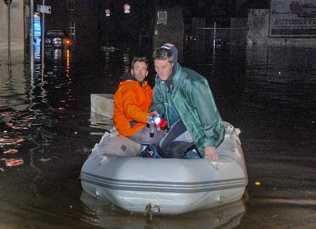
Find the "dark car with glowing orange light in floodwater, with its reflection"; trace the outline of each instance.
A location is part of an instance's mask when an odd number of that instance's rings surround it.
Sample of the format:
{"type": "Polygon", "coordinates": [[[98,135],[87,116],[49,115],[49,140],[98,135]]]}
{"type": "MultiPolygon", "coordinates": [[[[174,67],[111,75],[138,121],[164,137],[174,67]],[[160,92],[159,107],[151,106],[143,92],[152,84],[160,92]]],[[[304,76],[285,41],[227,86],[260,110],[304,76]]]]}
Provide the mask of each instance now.
{"type": "Polygon", "coordinates": [[[65,47],[72,46],[72,39],[61,29],[49,29],[45,32],[45,57],[62,60],[65,47]]]}

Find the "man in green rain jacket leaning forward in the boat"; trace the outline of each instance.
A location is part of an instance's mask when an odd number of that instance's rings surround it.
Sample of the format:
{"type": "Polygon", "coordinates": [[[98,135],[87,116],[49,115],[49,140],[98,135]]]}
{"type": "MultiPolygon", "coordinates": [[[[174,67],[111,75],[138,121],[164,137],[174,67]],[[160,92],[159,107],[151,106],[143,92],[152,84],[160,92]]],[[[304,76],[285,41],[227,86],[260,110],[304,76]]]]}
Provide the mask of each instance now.
{"type": "Polygon", "coordinates": [[[211,89],[206,78],[181,67],[177,57],[178,50],[170,43],[152,56],[157,76],[150,111],[164,115],[170,127],[158,152],[163,158],[197,158],[188,157],[196,147],[199,155],[217,161],[216,147],[225,128],[211,89]]]}

